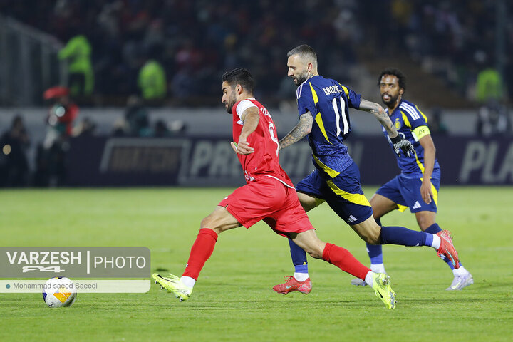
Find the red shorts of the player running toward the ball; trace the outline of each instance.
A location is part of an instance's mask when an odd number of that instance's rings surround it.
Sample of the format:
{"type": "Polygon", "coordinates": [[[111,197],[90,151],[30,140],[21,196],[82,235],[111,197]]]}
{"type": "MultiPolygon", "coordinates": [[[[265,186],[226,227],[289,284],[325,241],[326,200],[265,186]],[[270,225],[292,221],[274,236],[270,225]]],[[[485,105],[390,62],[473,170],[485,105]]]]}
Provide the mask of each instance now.
{"type": "Polygon", "coordinates": [[[246,228],[263,219],[274,232],[284,237],[288,237],[286,233],[314,229],[299,203],[296,190],[271,177],[260,177],[239,187],[219,205],[246,228]]]}

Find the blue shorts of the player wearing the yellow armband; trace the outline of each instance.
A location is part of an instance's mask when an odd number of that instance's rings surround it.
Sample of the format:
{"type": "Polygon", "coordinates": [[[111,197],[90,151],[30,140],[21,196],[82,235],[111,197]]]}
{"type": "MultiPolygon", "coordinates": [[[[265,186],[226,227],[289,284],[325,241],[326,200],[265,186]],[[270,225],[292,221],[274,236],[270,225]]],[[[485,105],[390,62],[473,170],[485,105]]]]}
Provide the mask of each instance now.
{"type": "Polygon", "coordinates": [[[440,179],[431,178],[431,191],[433,200],[430,204],[424,202],[420,195],[420,178],[408,178],[398,175],[390,182],[386,183],[376,191],[376,194],[387,197],[398,204],[398,209],[404,212],[410,207],[410,212],[437,212],[438,190],[440,189],[440,179]]]}

